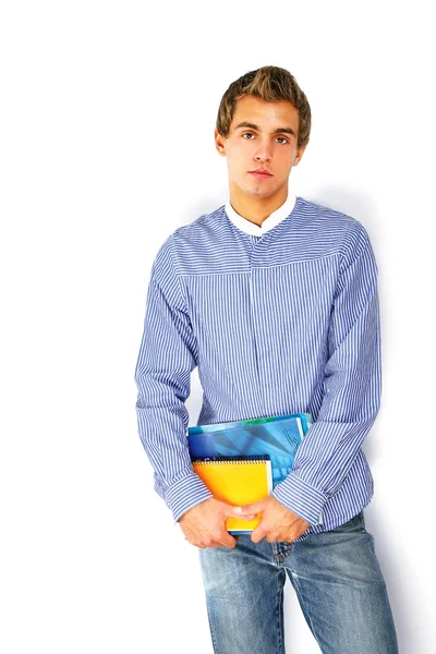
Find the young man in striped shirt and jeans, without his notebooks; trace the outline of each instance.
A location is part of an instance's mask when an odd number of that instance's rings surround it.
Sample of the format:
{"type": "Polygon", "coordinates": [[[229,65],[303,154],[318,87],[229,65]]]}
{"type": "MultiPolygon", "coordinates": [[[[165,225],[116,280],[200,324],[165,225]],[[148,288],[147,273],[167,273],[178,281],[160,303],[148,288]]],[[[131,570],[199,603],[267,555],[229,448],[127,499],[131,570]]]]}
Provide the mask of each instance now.
{"type": "Polygon", "coordinates": [[[386,584],[365,530],[373,479],[361,449],[379,405],[377,269],[363,226],[294,196],[311,109],[295,78],[264,66],[233,82],[215,143],[229,199],[177,229],[154,262],[136,365],[138,428],[155,488],[199,548],[219,654],[277,654],[286,574],[325,654],[395,654],[386,584]],[[197,424],[307,412],[313,425],[272,494],[233,508],[193,472],[197,424]],[[262,521],[226,531],[230,516],[262,521]]]}

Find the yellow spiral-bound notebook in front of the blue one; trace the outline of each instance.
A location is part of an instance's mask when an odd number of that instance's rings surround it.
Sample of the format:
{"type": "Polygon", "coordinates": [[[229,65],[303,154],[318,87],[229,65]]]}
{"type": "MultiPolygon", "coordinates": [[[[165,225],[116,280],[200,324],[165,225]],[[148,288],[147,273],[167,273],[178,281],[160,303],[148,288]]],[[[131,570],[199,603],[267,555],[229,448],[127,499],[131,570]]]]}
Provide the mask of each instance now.
{"type": "MultiPolygon", "coordinates": [[[[271,461],[267,459],[204,459],[192,462],[194,472],[216,499],[240,507],[268,497],[272,491],[271,461]]],[[[261,522],[228,518],[226,529],[231,534],[251,533],[261,522]]]]}

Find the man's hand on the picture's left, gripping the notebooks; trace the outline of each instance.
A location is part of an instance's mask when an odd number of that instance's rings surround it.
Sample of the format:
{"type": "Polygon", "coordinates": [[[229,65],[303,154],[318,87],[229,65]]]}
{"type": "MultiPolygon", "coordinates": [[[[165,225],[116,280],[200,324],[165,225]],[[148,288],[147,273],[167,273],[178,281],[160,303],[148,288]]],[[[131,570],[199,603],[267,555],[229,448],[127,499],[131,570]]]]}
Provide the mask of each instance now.
{"type": "Polygon", "coordinates": [[[226,520],[233,516],[233,508],[232,505],[210,497],[183,513],[179,524],[186,541],[202,549],[222,546],[233,548],[237,540],[226,529],[226,520]]]}

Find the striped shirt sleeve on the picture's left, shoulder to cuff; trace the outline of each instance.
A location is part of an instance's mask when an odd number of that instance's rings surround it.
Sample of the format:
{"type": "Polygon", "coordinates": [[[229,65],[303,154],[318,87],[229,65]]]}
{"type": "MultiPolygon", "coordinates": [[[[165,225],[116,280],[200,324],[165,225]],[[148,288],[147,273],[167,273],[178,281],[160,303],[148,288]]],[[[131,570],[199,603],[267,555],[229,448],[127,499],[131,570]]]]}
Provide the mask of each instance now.
{"type": "Polygon", "coordinates": [[[196,365],[196,339],[173,268],[169,237],[152,267],[135,382],[138,432],[154,469],[155,491],[175,522],[213,497],[195,474],[187,448],[184,402],[196,365]]]}

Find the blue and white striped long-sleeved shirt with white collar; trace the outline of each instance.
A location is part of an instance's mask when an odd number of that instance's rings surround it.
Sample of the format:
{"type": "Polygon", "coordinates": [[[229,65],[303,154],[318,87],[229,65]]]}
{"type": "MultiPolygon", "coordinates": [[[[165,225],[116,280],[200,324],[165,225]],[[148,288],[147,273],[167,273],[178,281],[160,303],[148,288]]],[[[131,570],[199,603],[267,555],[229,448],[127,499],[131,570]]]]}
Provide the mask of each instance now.
{"type": "Polygon", "coordinates": [[[185,400],[196,366],[197,424],[312,414],[292,471],[272,491],[311,523],[299,540],[370,502],[361,446],[379,407],[380,330],[377,266],[361,222],[288,195],[258,227],[228,202],[160,246],[136,411],[155,489],[175,522],[211,497],[187,449],[185,400]]]}

